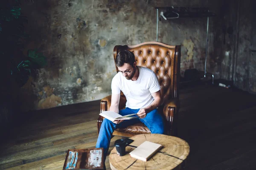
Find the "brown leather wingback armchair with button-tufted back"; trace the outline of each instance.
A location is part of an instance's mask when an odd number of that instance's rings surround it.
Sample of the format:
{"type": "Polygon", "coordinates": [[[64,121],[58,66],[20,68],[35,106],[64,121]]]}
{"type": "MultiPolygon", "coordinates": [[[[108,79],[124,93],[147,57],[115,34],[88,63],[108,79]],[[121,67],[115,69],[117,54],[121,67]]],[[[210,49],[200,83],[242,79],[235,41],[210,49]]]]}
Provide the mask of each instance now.
{"type": "MultiPolygon", "coordinates": [[[[162,105],[158,111],[166,119],[165,133],[177,136],[177,121],[179,110],[179,77],[180,77],[180,45],[167,45],[161,42],[143,42],[138,45],[116,45],[113,50],[114,59],[121,50],[134,53],[137,65],[150,68],[158,77],[162,105]]],[[[118,68],[116,67],[116,71],[118,68]]],[[[119,109],[125,108],[126,98],[121,92],[119,109]]],[[[101,100],[100,111],[109,111],[111,95],[101,100]]],[[[98,119],[98,133],[103,117],[98,119]]],[[[138,134],[151,133],[143,124],[137,123],[123,129],[116,129],[113,136],[131,137],[138,134]]]]}

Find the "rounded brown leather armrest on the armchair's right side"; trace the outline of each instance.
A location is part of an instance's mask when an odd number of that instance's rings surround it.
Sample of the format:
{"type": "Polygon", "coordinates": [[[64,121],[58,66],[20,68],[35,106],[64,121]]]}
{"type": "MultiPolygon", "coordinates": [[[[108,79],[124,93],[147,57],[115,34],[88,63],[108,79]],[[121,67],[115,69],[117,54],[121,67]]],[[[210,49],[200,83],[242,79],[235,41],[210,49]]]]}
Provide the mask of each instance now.
{"type": "Polygon", "coordinates": [[[168,135],[177,136],[178,110],[180,102],[177,98],[169,99],[163,106],[163,116],[166,118],[168,135]]]}

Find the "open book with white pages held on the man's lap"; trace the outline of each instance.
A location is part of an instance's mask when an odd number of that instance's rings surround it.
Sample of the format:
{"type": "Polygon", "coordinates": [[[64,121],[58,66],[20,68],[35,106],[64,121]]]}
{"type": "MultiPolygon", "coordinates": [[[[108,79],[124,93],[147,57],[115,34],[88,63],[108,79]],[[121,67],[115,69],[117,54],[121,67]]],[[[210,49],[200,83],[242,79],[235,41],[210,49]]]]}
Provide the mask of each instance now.
{"type": "Polygon", "coordinates": [[[126,116],[122,116],[116,112],[113,111],[102,111],[101,113],[99,113],[100,116],[105,117],[106,119],[110,120],[111,122],[115,121],[115,120],[129,120],[129,119],[134,119],[137,118],[136,115],[137,113],[134,114],[129,114],[126,116]]]}

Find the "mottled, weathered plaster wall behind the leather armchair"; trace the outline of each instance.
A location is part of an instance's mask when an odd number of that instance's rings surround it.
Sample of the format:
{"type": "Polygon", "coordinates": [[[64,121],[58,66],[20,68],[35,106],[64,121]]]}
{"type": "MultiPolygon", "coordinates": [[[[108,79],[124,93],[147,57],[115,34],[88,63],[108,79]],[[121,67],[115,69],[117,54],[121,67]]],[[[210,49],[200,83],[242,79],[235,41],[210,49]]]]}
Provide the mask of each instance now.
{"type": "MultiPolygon", "coordinates": [[[[111,79],[116,74],[113,47],[155,41],[155,6],[210,7],[217,16],[209,20],[207,71],[217,79],[221,74],[230,79],[226,75],[232,72],[230,60],[223,57],[221,0],[23,0],[31,35],[26,49],[38,48],[48,66],[20,89],[22,109],[51,108],[111,94],[111,79]]],[[[206,26],[207,18],[162,18],[159,22],[160,42],[183,45],[182,75],[189,68],[204,71],[206,26]]],[[[234,46],[235,42],[227,41],[234,46]]],[[[232,49],[227,57],[231,53],[232,49]]]]}

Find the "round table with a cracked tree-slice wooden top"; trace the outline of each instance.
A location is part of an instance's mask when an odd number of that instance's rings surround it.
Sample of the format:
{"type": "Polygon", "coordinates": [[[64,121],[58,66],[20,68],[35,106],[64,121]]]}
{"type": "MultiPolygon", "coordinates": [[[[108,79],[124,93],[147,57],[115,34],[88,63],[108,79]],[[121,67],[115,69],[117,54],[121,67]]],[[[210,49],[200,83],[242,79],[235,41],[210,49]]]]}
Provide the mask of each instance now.
{"type": "Polygon", "coordinates": [[[125,156],[118,156],[114,147],[109,155],[111,170],[179,170],[189,155],[189,144],[175,136],[149,133],[132,136],[130,139],[134,140],[131,145],[137,147],[145,141],[162,144],[163,147],[148,161],[132,158],[129,153],[134,147],[127,146],[125,156]]]}

